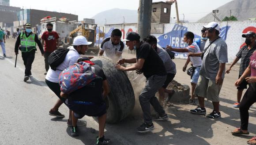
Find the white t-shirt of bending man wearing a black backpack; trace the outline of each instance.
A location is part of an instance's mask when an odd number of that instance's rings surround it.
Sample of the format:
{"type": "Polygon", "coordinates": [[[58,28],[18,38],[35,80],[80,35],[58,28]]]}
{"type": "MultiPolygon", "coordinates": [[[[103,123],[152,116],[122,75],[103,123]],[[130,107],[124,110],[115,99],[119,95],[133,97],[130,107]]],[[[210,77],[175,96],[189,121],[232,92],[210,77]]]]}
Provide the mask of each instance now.
{"type": "Polygon", "coordinates": [[[46,80],[49,80],[50,82],[53,82],[53,83],[59,83],[60,72],[62,72],[64,69],[67,69],[69,66],[77,62],[77,59],[80,57],[79,53],[72,46],[68,47],[68,49],[70,49],[70,51],[68,51],[64,59],[64,62],[62,62],[56,68],[56,71],[50,68],[45,76],[46,80]]]}

